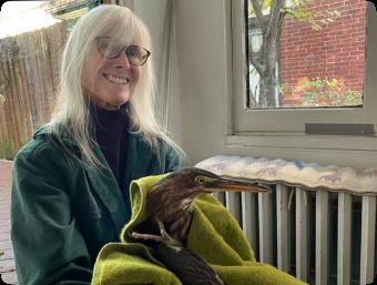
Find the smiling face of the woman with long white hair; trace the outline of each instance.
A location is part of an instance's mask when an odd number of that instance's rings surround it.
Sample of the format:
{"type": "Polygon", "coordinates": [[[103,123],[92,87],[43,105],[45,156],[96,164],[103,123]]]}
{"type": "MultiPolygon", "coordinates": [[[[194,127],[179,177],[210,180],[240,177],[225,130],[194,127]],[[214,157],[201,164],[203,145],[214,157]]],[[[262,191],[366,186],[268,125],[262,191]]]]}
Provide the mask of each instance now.
{"type": "MultiPolygon", "coordinates": [[[[136,41],[131,44],[139,45],[136,41]]],[[[133,95],[141,72],[142,67],[131,64],[124,50],[119,57],[109,59],[94,45],[84,64],[82,86],[98,105],[118,109],[133,95]]]]}

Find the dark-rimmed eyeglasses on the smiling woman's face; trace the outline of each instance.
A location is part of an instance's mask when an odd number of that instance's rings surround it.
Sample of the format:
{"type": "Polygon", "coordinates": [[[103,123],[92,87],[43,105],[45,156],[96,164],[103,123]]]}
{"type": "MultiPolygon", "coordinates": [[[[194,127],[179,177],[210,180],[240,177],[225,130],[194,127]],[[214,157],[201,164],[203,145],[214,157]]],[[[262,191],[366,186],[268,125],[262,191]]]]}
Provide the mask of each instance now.
{"type": "Polygon", "coordinates": [[[140,67],[143,65],[151,55],[151,52],[143,47],[124,47],[120,42],[112,40],[110,37],[98,37],[94,40],[99,52],[106,59],[115,59],[124,51],[130,63],[140,67]]]}

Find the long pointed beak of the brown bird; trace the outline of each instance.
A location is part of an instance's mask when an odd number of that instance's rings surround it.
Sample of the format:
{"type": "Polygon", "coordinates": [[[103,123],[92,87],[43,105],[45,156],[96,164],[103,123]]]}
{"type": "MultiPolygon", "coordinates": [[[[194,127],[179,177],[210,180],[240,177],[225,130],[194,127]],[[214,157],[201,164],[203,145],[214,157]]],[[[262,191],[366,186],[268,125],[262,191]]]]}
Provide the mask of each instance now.
{"type": "Polygon", "coordinates": [[[267,186],[262,186],[257,184],[257,182],[251,182],[245,180],[236,180],[228,177],[218,177],[211,185],[207,185],[206,189],[211,192],[272,192],[272,190],[267,186]]]}

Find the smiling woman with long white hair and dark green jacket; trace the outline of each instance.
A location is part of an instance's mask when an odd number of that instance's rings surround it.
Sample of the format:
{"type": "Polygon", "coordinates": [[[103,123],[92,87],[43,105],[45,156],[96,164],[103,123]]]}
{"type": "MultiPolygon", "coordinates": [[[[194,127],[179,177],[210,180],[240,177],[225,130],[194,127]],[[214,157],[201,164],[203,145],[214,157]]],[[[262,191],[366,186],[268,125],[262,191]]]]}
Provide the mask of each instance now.
{"type": "Polygon", "coordinates": [[[179,167],[182,152],[154,112],[150,50],[146,27],[123,7],[98,7],[71,32],[51,121],[14,160],[20,285],[90,284],[99,251],[130,220],[130,182],[179,167]]]}

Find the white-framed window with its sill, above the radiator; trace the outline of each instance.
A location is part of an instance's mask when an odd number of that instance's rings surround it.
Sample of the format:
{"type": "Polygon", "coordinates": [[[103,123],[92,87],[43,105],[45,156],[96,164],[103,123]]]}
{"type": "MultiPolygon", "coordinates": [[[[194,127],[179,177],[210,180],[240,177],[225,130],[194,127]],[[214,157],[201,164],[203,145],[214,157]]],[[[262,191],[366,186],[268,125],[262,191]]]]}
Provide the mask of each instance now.
{"type": "MultiPolygon", "coordinates": [[[[233,118],[227,145],[254,147],[261,151],[259,155],[278,149],[287,159],[297,157],[297,151],[340,150],[349,154],[350,162],[351,157],[377,151],[377,54],[373,52],[377,35],[371,32],[377,28],[377,13],[364,0],[340,2],[289,1],[288,7],[282,7],[286,14],[274,18],[283,29],[272,31],[279,39],[272,48],[265,44],[264,28],[257,20],[269,19],[272,9],[264,7],[261,13],[253,14],[252,0],[232,1],[233,118]],[[297,17],[312,19],[297,21],[288,16],[300,2],[306,6],[298,8],[307,10],[297,17]],[[320,45],[314,47],[315,41],[320,45]],[[276,53],[271,52],[274,48],[276,53]],[[259,60],[263,57],[265,65],[259,60]],[[266,65],[268,57],[272,60],[266,65]],[[266,79],[261,84],[263,72],[266,79]],[[342,135],[344,124],[354,128],[355,133],[342,135]],[[307,131],[310,125],[319,130],[318,134],[307,131]],[[365,125],[366,133],[358,129],[365,125]],[[319,135],[326,132],[327,135],[319,135]]],[[[307,157],[310,160],[313,154],[307,157]]],[[[334,163],[334,155],[332,160],[334,163]]]]}

